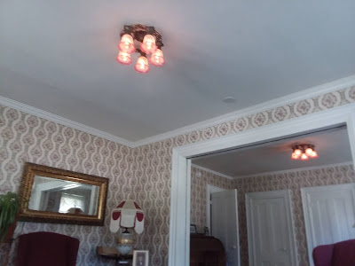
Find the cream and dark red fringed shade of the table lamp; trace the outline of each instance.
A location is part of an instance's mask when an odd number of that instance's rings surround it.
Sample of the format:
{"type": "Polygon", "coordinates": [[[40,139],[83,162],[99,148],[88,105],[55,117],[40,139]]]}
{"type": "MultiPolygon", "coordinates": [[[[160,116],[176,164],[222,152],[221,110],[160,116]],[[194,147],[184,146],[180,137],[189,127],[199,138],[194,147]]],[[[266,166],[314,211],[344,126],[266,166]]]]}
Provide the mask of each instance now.
{"type": "Polygon", "coordinates": [[[138,234],[144,229],[144,211],[133,200],[123,200],[111,214],[110,231],[133,228],[138,234]]]}

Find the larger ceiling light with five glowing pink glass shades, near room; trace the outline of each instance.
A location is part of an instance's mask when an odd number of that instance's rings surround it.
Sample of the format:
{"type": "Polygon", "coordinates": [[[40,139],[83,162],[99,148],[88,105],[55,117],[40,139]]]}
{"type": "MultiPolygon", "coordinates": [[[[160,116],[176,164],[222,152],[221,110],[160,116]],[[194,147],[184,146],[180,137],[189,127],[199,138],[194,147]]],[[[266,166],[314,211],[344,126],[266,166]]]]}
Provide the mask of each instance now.
{"type": "Polygon", "coordinates": [[[161,50],[162,35],[154,27],[141,24],[125,25],[121,32],[121,41],[117,46],[120,51],[116,59],[122,65],[130,65],[132,52],[140,53],[134,66],[138,73],[149,72],[147,55],[150,55],[149,63],[153,66],[163,66],[165,63],[161,50]]]}

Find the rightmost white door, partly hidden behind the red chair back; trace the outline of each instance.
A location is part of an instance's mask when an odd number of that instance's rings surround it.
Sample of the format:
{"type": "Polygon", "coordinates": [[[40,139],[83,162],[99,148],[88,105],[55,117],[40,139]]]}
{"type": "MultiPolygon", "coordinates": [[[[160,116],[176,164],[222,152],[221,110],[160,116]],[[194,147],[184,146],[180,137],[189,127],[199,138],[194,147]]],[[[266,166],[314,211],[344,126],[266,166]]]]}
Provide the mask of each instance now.
{"type": "Polygon", "coordinates": [[[355,184],[303,188],[308,253],[319,245],[355,239],[355,184]]]}

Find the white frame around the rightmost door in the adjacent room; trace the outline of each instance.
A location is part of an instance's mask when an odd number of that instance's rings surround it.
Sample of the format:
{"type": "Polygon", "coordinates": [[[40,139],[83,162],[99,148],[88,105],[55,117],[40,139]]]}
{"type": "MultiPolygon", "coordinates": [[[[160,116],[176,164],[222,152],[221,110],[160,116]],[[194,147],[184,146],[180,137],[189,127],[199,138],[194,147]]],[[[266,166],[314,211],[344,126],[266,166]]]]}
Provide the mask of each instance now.
{"type": "Polygon", "coordinates": [[[304,226],[305,226],[305,235],[307,239],[307,249],[309,254],[310,265],[314,265],[312,259],[312,251],[315,246],[313,246],[313,237],[312,237],[312,229],[310,224],[310,209],[308,206],[308,195],[310,192],[328,192],[333,191],[335,188],[344,190],[344,191],[353,191],[355,187],[354,183],[350,184],[330,184],[330,185],[321,185],[321,186],[311,186],[311,187],[303,187],[301,188],[301,197],[302,197],[302,205],[304,207],[304,226]]]}

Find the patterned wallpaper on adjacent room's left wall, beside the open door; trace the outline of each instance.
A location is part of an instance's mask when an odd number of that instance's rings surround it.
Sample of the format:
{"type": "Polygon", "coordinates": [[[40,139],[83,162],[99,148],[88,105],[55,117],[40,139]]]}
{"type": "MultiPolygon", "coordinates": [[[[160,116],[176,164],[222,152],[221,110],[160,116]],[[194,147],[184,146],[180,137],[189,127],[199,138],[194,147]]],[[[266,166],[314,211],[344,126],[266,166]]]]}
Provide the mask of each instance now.
{"type": "Polygon", "coordinates": [[[206,224],[206,188],[207,184],[231,190],[235,186],[233,179],[217,176],[210,172],[191,168],[191,217],[190,221],[196,224],[197,231],[203,232],[206,224]],[[199,175],[201,173],[201,176],[199,175]]]}

